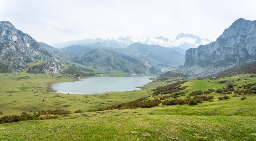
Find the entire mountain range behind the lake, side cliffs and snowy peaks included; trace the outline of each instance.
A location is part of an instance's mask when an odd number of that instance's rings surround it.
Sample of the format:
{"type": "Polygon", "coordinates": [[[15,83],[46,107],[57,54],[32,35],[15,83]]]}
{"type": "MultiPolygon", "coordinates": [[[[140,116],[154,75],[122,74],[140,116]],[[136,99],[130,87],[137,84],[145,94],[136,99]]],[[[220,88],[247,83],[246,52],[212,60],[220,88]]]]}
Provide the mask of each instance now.
{"type": "Polygon", "coordinates": [[[31,73],[63,74],[65,70],[60,65],[74,67],[69,64],[79,63],[101,71],[128,74],[162,74],[177,69],[174,72],[184,72],[192,77],[216,75],[256,60],[256,20],[240,18],[215,42],[210,42],[181,33],[173,41],[161,36],[138,40],[131,37],[97,38],[54,44],[60,48],[57,49],[38,43],[10,22],[2,21],[0,72],[17,73],[26,68],[31,73]],[[43,63],[29,67],[34,60],[43,63]],[[178,69],[180,65],[183,66],[178,69]]]}

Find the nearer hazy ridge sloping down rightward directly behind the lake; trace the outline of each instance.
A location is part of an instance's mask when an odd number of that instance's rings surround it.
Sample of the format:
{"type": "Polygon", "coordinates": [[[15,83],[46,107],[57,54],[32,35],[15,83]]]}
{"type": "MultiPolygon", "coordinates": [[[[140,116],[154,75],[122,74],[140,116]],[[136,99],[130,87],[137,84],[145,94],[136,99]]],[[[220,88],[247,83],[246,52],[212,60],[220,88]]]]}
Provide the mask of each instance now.
{"type": "Polygon", "coordinates": [[[73,45],[63,48],[67,53],[76,54],[75,63],[94,67],[103,71],[123,71],[129,74],[149,74],[149,63],[146,60],[118,51],[73,45]]]}

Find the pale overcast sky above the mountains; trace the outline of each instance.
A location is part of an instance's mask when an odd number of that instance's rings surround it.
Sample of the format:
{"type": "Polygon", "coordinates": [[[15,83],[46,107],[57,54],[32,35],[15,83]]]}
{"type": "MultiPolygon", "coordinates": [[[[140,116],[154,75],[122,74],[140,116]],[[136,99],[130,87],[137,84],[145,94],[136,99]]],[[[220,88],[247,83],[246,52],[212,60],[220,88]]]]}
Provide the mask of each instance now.
{"type": "Polygon", "coordinates": [[[181,32],[216,40],[238,18],[256,20],[256,0],[0,0],[0,21],[50,45],[181,32]]]}

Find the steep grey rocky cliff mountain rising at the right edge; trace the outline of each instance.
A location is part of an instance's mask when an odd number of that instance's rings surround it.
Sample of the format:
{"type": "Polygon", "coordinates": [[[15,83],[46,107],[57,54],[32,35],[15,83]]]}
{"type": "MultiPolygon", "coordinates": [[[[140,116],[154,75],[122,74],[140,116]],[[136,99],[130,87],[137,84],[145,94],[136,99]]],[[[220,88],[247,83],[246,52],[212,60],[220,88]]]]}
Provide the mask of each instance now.
{"type": "Polygon", "coordinates": [[[236,20],[215,42],[188,49],[180,70],[209,76],[256,60],[256,20],[236,20]]]}

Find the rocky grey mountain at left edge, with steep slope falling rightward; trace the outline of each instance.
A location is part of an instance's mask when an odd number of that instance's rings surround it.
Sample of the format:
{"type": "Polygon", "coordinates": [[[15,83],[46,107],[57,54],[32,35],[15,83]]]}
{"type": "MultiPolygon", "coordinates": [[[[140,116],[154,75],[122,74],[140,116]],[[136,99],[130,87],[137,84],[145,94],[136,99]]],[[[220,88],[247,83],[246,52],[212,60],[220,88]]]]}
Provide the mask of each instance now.
{"type": "MultiPolygon", "coordinates": [[[[43,60],[47,68],[40,72],[57,73],[58,64],[49,51],[28,34],[16,29],[11,22],[0,22],[0,72],[22,72],[34,59],[43,60]]],[[[39,70],[39,69],[38,69],[39,70]]]]}

